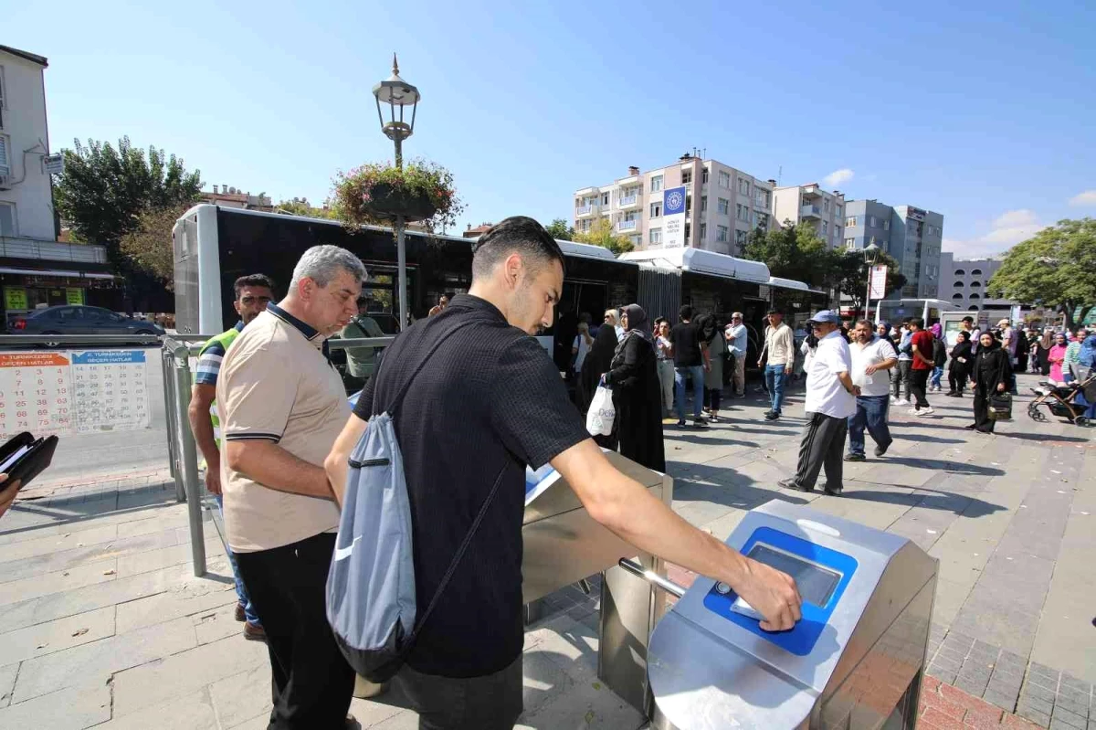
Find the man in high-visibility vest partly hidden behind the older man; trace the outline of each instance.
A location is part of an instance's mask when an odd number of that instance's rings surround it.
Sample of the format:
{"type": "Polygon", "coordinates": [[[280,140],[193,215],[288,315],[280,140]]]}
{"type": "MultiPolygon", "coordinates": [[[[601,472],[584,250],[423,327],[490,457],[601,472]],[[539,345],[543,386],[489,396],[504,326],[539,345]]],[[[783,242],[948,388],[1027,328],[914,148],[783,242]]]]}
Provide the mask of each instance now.
{"type": "MultiPolygon", "coordinates": [[[[210,338],[198,352],[198,365],[194,373],[194,389],[191,392],[189,415],[194,441],[197,442],[206,463],[206,489],[216,495],[220,504],[220,419],[217,417],[217,375],[220,373],[220,362],[232,345],[236,338],[251,320],[266,309],[274,299],[274,283],[264,274],[241,276],[233,285],[236,312],[240,321],[232,329],[210,338]]],[[[240,580],[240,571],[236,567],[232,551],[228,551],[228,560],[232,564],[232,575],[236,579],[236,620],[243,621],[243,637],[255,641],[266,639],[262,621],[255,615],[248,598],[248,591],[240,580]]]]}

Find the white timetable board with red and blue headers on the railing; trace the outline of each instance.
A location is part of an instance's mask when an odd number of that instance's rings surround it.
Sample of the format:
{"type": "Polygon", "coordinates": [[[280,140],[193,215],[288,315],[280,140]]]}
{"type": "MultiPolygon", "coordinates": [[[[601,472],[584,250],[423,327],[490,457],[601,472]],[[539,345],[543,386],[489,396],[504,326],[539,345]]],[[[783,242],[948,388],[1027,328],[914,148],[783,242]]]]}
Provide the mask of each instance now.
{"type": "Polygon", "coordinates": [[[151,424],[144,350],[0,353],[0,438],[151,424]]]}

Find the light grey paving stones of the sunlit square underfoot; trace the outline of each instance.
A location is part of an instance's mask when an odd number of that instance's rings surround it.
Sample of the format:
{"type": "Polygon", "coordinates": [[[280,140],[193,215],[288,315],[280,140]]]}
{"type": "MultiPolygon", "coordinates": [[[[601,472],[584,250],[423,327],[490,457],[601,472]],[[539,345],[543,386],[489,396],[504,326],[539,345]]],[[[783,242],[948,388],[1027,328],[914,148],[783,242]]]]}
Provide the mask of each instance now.
{"type": "MultiPolygon", "coordinates": [[[[933,418],[892,409],[894,446],[845,464],[841,498],[775,487],[795,469],[799,390],[779,421],[763,421],[751,392],[707,430],[669,425],[674,509],[726,538],[747,510],[784,499],[914,540],[940,560],[918,727],[1096,730],[1096,431],[1029,421],[1020,398],[1017,419],[983,436],[962,427],[969,399],[931,400],[933,418]]],[[[194,578],[165,472],[118,472],[33,484],[0,522],[0,730],[264,728],[265,649],[232,620],[213,523],[209,572],[194,578]]],[[[548,596],[528,627],[518,727],[643,726],[596,677],[598,585],[548,596]]],[[[398,697],[352,711],[367,728],[415,727],[398,697]]]]}

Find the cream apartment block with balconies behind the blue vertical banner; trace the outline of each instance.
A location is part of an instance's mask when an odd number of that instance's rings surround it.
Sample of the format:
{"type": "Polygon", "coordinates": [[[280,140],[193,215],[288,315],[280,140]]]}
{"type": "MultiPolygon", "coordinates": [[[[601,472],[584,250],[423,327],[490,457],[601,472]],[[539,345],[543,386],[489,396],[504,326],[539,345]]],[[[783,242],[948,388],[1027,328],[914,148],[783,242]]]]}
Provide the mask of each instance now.
{"type": "Polygon", "coordinates": [[[750,231],[772,224],[773,183],[716,160],[677,162],[574,192],[574,229],[608,219],[637,250],[663,247],[663,191],[685,187],[685,246],[734,255],[750,231]]]}

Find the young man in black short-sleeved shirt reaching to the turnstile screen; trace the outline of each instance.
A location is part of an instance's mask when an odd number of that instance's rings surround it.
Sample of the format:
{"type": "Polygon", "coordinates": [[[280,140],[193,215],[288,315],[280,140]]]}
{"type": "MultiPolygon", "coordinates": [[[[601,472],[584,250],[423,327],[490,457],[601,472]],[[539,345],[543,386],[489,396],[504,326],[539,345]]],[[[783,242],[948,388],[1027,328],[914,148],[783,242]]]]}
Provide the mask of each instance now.
{"type": "Polygon", "coordinates": [[[501,472],[467,555],[396,677],[420,728],[511,728],[522,711],[522,520],[525,467],[551,465],[590,515],[640,550],[731,584],[768,620],[800,617],[795,582],[692,527],[608,463],[535,334],[550,327],[563,254],[535,220],[507,218],[476,246],[472,284],[392,343],[326,466],[340,502],[346,459],[374,412],[391,413],[411,501],[415,592],[424,606],[501,472]],[[454,427],[457,424],[457,427],[454,427]]]}

